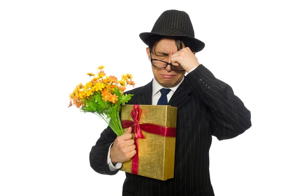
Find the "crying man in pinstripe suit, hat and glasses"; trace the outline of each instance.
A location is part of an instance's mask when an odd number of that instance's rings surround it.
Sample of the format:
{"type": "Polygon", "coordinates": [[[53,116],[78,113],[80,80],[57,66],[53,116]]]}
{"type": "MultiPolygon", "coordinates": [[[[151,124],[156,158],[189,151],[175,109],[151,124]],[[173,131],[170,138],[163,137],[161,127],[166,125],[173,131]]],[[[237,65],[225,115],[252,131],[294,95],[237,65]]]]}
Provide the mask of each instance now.
{"type": "MultiPolygon", "coordinates": [[[[128,104],[164,104],[178,108],[174,178],[166,181],[126,173],[123,196],[214,196],[209,174],[212,135],[230,139],[251,127],[250,111],[232,88],[198,62],[204,43],[194,38],[189,16],[167,10],[150,33],[140,34],[154,78],[128,104]],[[185,76],[185,73],[188,73],[185,76]],[[185,76],[185,77],[184,77],[185,76]],[[164,92],[166,91],[166,92],[164,92]]],[[[136,154],[131,128],[116,137],[105,129],[90,152],[91,167],[114,175],[136,154]]]]}

